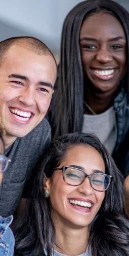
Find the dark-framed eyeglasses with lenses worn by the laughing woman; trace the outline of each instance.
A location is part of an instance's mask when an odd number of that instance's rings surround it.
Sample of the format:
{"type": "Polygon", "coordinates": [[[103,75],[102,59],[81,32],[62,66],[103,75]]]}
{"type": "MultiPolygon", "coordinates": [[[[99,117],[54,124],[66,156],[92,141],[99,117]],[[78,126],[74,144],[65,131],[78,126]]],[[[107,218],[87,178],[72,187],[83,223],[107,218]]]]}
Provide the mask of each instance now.
{"type": "Polygon", "coordinates": [[[62,166],[62,168],[55,168],[53,170],[62,170],[64,181],[71,186],[81,185],[85,178],[88,177],[91,187],[100,192],[106,191],[112,181],[111,175],[99,172],[87,175],[84,171],[70,166],[62,166]]]}

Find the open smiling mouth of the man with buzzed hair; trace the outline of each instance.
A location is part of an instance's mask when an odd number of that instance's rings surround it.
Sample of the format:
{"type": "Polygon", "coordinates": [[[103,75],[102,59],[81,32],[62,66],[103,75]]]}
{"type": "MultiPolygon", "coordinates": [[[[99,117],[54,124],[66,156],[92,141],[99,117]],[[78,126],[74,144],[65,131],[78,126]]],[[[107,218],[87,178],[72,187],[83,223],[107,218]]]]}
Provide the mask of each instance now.
{"type": "Polygon", "coordinates": [[[10,107],[10,112],[20,121],[28,121],[32,115],[31,112],[20,111],[19,109],[12,107],[10,107]]]}

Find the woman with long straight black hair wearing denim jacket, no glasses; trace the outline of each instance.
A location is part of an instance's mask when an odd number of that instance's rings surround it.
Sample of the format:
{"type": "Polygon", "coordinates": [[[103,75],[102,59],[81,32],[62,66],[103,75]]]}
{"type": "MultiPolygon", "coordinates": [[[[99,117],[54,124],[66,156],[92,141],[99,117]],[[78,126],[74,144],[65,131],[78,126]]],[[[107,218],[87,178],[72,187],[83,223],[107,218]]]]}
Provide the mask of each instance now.
{"type": "Polygon", "coordinates": [[[129,127],[129,14],[111,0],[76,5],[62,29],[49,109],[52,136],[95,133],[114,155],[129,127]]]}

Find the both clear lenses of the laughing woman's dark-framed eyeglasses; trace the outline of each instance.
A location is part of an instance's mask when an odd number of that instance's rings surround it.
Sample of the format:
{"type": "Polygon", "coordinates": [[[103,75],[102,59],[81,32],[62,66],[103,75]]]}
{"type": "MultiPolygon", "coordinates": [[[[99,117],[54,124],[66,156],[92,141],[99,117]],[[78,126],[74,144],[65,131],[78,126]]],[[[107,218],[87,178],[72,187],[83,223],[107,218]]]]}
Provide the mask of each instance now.
{"type": "MultiPolygon", "coordinates": [[[[66,167],[65,169],[65,182],[69,185],[78,186],[85,179],[83,171],[66,167]]],[[[90,175],[91,185],[93,189],[98,191],[105,191],[110,184],[110,177],[105,174],[96,173],[90,175]]]]}

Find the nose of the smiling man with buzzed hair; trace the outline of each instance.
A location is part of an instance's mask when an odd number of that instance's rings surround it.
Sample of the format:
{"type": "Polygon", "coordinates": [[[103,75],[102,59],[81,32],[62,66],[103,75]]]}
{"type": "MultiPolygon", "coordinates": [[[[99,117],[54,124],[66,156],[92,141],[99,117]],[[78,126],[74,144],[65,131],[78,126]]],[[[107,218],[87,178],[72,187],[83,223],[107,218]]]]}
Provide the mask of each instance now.
{"type": "Polygon", "coordinates": [[[31,86],[24,88],[19,96],[19,101],[26,106],[35,105],[35,90],[31,86]]]}

